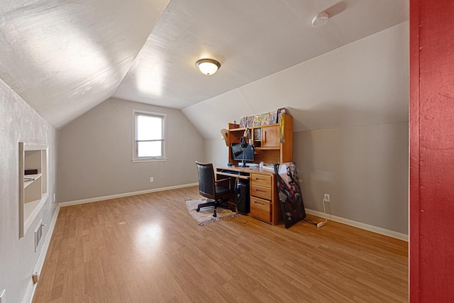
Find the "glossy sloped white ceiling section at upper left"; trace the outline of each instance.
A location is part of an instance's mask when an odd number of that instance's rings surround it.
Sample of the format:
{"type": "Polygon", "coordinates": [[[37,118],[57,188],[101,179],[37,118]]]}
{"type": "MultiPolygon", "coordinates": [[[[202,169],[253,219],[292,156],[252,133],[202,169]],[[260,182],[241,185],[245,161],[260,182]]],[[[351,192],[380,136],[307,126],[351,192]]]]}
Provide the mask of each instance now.
{"type": "Polygon", "coordinates": [[[0,78],[60,127],[114,94],[168,0],[2,0],[0,78]]]}

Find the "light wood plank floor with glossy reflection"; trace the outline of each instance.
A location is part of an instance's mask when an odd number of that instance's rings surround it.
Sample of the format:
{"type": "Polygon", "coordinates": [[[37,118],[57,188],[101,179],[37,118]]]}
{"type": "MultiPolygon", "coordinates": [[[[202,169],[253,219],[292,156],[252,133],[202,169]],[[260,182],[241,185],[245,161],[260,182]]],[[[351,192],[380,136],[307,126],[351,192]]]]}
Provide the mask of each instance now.
{"type": "Polygon", "coordinates": [[[184,203],[196,197],[63,207],[33,302],[408,302],[404,241],[336,222],[198,226],[184,203]]]}

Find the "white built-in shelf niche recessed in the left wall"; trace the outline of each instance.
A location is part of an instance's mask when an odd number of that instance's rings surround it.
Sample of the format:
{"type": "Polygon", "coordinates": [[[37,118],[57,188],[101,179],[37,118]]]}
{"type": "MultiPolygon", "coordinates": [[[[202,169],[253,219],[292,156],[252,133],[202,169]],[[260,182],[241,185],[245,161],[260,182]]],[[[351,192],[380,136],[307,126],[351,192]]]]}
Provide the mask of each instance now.
{"type": "Polygon", "coordinates": [[[23,237],[48,199],[48,146],[19,142],[19,237],[23,237]],[[26,170],[37,170],[26,175],[26,170]]]}

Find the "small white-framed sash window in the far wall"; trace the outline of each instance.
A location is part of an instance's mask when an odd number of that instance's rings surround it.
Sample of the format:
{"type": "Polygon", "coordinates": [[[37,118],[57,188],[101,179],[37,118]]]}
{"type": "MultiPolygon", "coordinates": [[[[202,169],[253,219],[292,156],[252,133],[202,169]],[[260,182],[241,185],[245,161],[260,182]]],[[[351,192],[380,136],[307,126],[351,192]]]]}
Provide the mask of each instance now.
{"type": "Polygon", "coordinates": [[[133,113],[133,161],[166,160],[165,114],[136,110],[133,113]]]}

